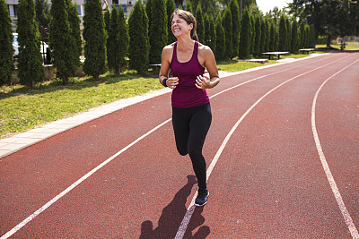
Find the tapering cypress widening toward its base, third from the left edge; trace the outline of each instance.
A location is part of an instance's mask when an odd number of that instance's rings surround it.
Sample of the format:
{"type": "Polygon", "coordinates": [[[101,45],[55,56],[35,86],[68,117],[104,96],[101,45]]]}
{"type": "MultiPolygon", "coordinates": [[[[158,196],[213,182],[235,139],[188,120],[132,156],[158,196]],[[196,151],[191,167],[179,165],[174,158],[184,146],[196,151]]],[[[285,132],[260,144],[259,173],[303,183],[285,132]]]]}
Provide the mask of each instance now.
{"type": "Polygon", "coordinates": [[[66,8],[65,0],[52,0],[49,35],[53,64],[64,85],[68,83],[68,78],[76,73],[80,61],[66,8]]]}

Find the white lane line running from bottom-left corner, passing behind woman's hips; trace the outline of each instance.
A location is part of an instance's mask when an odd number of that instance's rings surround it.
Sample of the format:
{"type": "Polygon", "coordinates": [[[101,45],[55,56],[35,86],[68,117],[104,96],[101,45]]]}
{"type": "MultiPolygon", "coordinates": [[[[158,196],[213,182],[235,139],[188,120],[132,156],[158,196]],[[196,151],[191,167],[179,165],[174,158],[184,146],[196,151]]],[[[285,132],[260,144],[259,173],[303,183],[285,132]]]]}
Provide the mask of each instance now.
{"type": "MultiPolygon", "coordinates": [[[[331,58],[331,57],[328,57],[328,58],[331,58]]],[[[315,62],[319,62],[319,61],[322,61],[322,60],[326,60],[328,58],[324,58],[324,59],[320,59],[318,61],[315,61],[315,62]]],[[[310,63],[311,64],[311,63],[310,63]]],[[[305,65],[305,64],[303,64],[305,65]]],[[[297,66],[298,67],[298,66],[297,66]]],[[[283,71],[279,71],[279,72],[276,72],[276,73],[283,73],[285,71],[289,71],[289,70],[292,70],[294,68],[297,68],[297,67],[292,67],[292,68],[289,68],[289,69],[286,69],[286,70],[283,70],[283,71]]],[[[270,73],[270,74],[267,74],[265,76],[269,76],[269,75],[272,75],[272,74],[275,74],[275,73],[270,73]]],[[[252,79],[250,81],[255,81],[255,80],[258,80],[262,78],[261,77],[258,77],[256,79],[252,79]]],[[[236,87],[239,87],[245,83],[248,83],[250,81],[245,81],[245,82],[242,82],[241,84],[238,84],[232,88],[230,88],[231,90],[236,88],[236,87]]],[[[228,90],[228,89],[227,89],[228,90]]],[[[227,90],[223,90],[222,92],[225,92],[227,90]]],[[[222,92],[219,92],[217,94],[215,94],[214,96],[212,96],[211,98],[214,98],[215,96],[218,96],[220,95],[222,92]]],[[[119,150],[116,154],[114,154],[113,156],[111,156],[110,158],[106,159],[105,161],[103,161],[101,163],[101,165],[99,166],[96,166],[95,168],[93,168],[89,173],[87,173],[86,175],[83,175],[83,177],[81,177],[79,180],[77,180],[76,182],[74,182],[74,184],[70,185],[69,187],[66,188],[66,190],[64,190],[63,192],[60,192],[57,196],[55,196],[52,200],[48,201],[48,203],[46,203],[45,205],[43,205],[41,208],[39,208],[38,210],[36,210],[34,213],[32,213],[28,218],[25,218],[21,223],[19,223],[17,226],[14,226],[13,229],[11,229],[10,231],[8,231],[5,235],[1,236],[0,239],[5,239],[5,238],[8,238],[10,236],[12,236],[14,233],[16,233],[18,230],[20,230],[22,228],[22,226],[25,226],[26,224],[28,224],[33,218],[36,218],[37,216],[39,216],[39,214],[41,212],[43,212],[44,210],[48,209],[48,207],[50,207],[52,204],[54,204],[56,201],[58,201],[59,199],[61,199],[63,196],[66,195],[67,192],[70,192],[71,190],[74,189],[74,187],[76,187],[78,184],[81,184],[83,183],[83,181],[85,179],[87,179],[89,176],[93,175],[96,171],[98,171],[99,169],[101,169],[102,166],[106,166],[107,164],[109,164],[110,161],[112,161],[114,158],[118,157],[120,154],[122,154],[124,151],[126,151],[127,149],[131,148],[133,145],[135,145],[138,141],[141,141],[144,139],[144,137],[148,136],[149,134],[151,134],[152,132],[156,131],[157,129],[161,128],[164,124],[167,124],[171,121],[171,118],[166,120],[165,122],[163,122],[162,124],[159,124],[157,125],[156,127],[154,127],[152,130],[150,130],[149,132],[146,132],[144,135],[142,135],[141,137],[137,138],[136,141],[133,141],[132,143],[128,144],[127,147],[119,150]]]]}

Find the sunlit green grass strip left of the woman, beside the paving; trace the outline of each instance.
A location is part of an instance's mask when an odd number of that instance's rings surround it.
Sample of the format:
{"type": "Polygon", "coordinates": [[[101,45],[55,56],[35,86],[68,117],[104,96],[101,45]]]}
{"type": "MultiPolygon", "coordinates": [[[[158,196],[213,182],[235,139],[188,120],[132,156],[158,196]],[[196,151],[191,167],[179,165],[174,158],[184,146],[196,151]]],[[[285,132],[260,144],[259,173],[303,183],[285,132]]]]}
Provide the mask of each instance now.
{"type": "Polygon", "coordinates": [[[0,138],[12,132],[35,128],[91,107],[159,90],[157,78],[144,78],[135,73],[119,77],[107,74],[101,81],[75,78],[68,86],[60,81],[39,85],[31,90],[16,85],[0,88],[0,138]]]}

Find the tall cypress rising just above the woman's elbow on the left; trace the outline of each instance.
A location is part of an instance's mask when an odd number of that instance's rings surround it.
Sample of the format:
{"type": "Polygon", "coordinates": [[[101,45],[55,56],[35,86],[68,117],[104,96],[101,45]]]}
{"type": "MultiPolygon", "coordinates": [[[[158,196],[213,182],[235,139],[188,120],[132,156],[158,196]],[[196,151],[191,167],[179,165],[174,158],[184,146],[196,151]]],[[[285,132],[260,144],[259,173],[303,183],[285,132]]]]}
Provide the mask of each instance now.
{"type": "Polygon", "coordinates": [[[153,0],[153,22],[150,29],[150,64],[161,63],[162,49],[167,45],[167,11],[164,0],[153,0]]]}

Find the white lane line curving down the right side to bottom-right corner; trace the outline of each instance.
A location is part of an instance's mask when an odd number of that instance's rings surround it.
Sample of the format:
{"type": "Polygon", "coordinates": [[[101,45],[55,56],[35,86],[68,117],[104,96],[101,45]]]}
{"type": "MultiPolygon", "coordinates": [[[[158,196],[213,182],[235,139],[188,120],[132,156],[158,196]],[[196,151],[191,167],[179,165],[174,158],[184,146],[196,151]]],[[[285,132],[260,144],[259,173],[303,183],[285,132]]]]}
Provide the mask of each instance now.
{"type": "MultiPolygon", "coordinates": [[[[358,62],[358,60],[356,60],[354,63],[358,62]]],[[[350,217],[349,212],[346,209],[346,205],[344,204],[342,195],[339,192],[339,189],[337,188],[337,184],[336,181],[334,180],[333,175],[330,172],[330,168],[328,166],[328,162],[327,159],[324,156],[323,153],[323,149],[321,149],[321,144],[320,144],[320,138],[318,136],[318,132],[317,132],[317,127],[315,124],[315,107],[317,105],[317,98],[318,95],[320,93],[320,90],[323,88],[323,86],[334,76],[336,76],[338,73],[343,72],[344,70],[346,70],[346,68],[348,68],[349,66],[351,66],[352,64],[348,64],[345,68],[343,68],[342,70],[340,70],[339,72],[333,74],[332,76],[330,76],[326,81],[324,81],[321,85],[320,88],[317,90],[317,92],[315,93],[315,96],[313,98],[313,103],[311,106],[311,130],[313,132],[313,136],[314,136],[314,141],[315,141],[315,145],[317,146],[317,150],[318,150],[318,154],[320,155],[320,162],[321,165],[323,166],[324,172],[327,175],[327,179],[328,179],[328,183],[330,184],[331,187],[331,191],[334,193],[334,197],[337,200],[337,205],[339,206],[339,209],[344,217],[344,220],[346,221],[346,226],[348,226],[349,231],[352,235],[353,238],[358,239],[359,238],[359,234],[358,231],[355,227],[355,224],[353,222],[353,219],[350,217]]]]}

